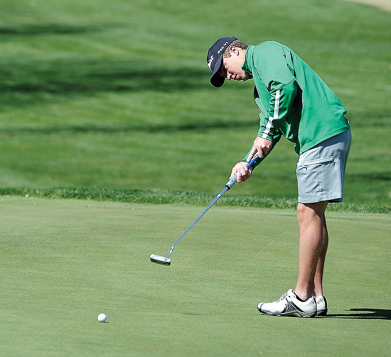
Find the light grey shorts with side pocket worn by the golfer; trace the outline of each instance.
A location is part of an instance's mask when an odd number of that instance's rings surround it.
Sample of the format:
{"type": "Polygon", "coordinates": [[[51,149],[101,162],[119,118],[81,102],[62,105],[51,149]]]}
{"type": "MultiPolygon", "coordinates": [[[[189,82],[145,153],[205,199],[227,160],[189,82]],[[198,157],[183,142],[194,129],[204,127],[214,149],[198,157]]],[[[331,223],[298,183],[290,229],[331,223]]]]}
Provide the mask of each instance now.
{"type": "Polygon", "coordinates": [[[300,155],[296,169],[300,203],[342,202],[350,144],[348,130],[300,155]]]}

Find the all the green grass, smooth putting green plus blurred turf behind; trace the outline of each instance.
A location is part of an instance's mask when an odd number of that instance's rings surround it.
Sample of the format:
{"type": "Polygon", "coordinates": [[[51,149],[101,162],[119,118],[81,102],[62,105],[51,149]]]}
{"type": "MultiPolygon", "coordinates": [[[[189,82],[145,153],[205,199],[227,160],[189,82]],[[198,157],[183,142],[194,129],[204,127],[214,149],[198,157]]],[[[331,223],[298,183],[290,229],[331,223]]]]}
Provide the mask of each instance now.
{"type": "Polygon", "coordinates": [[[339,0],[1,1],[0,194],[19,197],[0,196],[0,355],[387,356],[390,20],[339,0]],[[291,46],[348,109],[327,318],[256,311],[296,279],[287,141],[189,232],[171,267],[149,262],[258,132],[252,83],[209,84],[206,51],[232,35],[291,46]]]}

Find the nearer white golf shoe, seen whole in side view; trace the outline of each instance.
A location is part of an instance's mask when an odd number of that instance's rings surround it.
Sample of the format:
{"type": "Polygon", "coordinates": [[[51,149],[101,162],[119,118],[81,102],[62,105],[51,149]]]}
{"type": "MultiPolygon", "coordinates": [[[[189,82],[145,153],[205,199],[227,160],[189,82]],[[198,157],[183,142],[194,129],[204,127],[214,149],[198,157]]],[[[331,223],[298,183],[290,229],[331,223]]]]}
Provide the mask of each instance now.
{"type": "Polygon", "coordinates": [[[316,302],[313,297],[310,297],[307,301],[302,301],[290,289],[277,301],[259,303],[258,311],[265,315],[312,317],[316,315],[316,302]]]}

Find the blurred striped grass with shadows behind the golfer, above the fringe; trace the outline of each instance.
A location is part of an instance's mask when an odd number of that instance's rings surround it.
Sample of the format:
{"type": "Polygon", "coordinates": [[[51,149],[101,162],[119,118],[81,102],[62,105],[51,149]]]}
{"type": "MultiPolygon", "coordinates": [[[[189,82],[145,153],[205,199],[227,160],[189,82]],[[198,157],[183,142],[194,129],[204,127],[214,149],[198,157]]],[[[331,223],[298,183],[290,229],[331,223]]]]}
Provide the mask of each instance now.
{"type": "MultiPolygon", "coordinates": [[[[0,187],[217,193],[258,131],[251,81],[209,84],[208,48],[236,36],[321,75],[353,131],[345,203],[390,206],[390,20],[338,0],[3,0],[0,187]]],[[[282,140],[236,194],[296,199],[296,162],[282,140]]]]}

